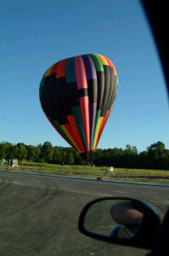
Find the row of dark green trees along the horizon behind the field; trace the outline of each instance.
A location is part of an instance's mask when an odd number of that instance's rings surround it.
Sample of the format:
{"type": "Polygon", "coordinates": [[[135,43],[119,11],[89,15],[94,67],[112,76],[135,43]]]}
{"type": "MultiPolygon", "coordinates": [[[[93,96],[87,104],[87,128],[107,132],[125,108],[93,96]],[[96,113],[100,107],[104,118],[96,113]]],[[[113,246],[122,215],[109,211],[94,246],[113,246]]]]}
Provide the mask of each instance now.
{"type": "MultiPolygon", "coordinates": [[[[79,154],[72,148],[53,147],[45,142],[37,146],[24,143],[0,143],[0,159],[18,159],[49,164],[84,165],[79,154]]],[[[134,146],[122,148],[99,148],[93,155],[95,166],[169,170],[169,149],[161,142],[151,144],[147,150],[138,153],[134,146]]]]}

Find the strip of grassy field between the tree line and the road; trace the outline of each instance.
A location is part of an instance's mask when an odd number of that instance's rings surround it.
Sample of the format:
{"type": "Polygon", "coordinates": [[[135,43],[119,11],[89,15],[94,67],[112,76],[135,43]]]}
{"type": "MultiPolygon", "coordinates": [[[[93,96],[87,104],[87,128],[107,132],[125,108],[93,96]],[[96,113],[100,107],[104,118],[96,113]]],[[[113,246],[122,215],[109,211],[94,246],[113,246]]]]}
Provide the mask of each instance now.
{"type": "Polygon", "coordinates": [[[110,167],[106,166],[60,166],[29,161],[23,162],[23,167],[21,162],[19,162],[19,166],[8,167],[6,164],[2,166],[2,169],[21,172],[69,175],[77,177],[101,177],[127,181],[169,183],[169,171],[165,170],[114,168],[114,172],[110,172],[110,167]],[[106,168],[109,170],[108,173],[105,173],[106,168]]]}

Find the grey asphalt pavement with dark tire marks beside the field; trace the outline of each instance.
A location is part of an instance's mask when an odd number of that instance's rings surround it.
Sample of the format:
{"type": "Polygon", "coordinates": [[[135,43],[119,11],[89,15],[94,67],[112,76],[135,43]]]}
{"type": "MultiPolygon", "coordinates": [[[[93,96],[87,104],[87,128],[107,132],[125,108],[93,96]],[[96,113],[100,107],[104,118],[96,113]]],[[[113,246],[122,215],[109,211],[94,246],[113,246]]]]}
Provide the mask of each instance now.
{"type": "Polygon", "coordinates": [[[147,201],[163,218],[168,195],[169,187],[0,172],[0,255],[144,255],[82,235],[79,214],[100,196],[127,196],[147,201]]]}

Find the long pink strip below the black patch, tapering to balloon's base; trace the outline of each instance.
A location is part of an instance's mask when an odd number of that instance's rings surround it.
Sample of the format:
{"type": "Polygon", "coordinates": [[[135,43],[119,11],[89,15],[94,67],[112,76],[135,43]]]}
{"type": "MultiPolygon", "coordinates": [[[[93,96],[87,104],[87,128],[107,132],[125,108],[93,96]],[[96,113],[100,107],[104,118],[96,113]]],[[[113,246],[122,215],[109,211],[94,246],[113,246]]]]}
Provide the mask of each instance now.
{"type": "Polygon", "coordinates": [[[89,128],[89,102],[88,96],[83,96],[79,98],[81,113],[82,113],[82,125],[85,133],[86,143],[87,143],[87,151],[90,150],[90,128],[89,128]]]}

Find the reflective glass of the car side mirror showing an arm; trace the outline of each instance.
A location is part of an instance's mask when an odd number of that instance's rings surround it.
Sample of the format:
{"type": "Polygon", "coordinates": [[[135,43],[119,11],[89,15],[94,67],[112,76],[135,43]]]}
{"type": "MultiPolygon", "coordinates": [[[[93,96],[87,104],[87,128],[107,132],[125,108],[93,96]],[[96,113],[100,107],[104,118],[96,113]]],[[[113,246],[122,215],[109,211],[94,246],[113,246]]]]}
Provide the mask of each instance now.
{"type": "Polygon", "coordinates": [[[131,238],[143,219],[142,209],[131,200],[104,200],[91,206],[84,219],[84,228],[98,235],[131,238]]]}

